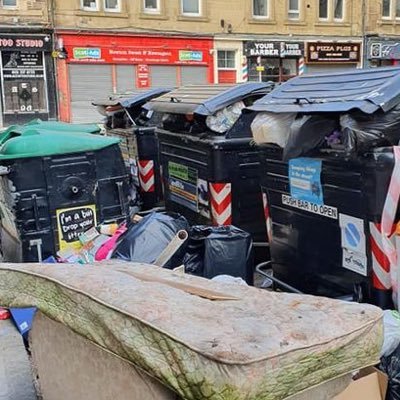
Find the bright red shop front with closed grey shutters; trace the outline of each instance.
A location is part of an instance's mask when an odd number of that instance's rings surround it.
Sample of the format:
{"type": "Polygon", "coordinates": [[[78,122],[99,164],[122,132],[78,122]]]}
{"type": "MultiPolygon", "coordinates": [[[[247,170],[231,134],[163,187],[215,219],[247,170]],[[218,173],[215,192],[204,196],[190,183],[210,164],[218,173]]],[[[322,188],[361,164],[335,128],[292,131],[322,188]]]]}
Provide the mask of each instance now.
{"type": "Polygon", "coordinates": [[[59,33],[57,47],[64,121],[98,121],[91,103],[112,93],[214,81],[211,38],[59,33]]]}

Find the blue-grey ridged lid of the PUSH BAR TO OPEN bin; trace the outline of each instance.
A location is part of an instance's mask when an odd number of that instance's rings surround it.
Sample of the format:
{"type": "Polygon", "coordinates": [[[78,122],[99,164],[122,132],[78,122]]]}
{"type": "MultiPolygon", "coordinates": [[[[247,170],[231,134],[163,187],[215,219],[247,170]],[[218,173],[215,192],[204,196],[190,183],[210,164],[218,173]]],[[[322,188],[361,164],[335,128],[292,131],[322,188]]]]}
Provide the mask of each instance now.
{"type": "Polygon", "coordinates": [[[400,102],[400,68],[349,69],[300,75],[257,100],[249,110],[283,112],[389,111],[400,102]]]}

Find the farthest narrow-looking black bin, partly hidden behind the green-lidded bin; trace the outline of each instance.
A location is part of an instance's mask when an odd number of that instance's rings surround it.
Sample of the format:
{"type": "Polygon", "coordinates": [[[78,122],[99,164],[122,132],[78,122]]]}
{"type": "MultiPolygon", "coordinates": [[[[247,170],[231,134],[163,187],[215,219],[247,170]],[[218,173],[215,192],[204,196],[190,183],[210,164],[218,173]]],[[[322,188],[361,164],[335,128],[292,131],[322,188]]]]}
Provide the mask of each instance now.
{"type": "Polygon", "coordinates": [[[132,166],[133,160],[137,160],[137,184],[143,210],[153,208],[162,200],[158,142],[154,134],[155,127],[161,121],[161,115],[143,109],[143,105],[170,90],[168,88],[139,90],[93,103],[105,116],[108,116],[107,134],[121,139],[120,146],[127,166],[132,166]],[[113,122],[116,116],[120,116],[125,125],[113,122]]]}

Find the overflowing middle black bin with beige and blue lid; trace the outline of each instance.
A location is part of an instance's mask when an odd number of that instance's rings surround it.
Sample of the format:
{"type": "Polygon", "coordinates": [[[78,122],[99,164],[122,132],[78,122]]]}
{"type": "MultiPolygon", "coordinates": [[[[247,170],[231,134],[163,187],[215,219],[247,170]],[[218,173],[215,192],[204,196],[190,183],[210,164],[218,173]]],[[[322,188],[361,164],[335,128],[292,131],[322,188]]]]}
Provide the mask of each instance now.
{"type": "Polygon", "coordinates": [[[251,233],[255,241],[266,242],[251,121],[243,117],[240,107],[235,123],[227,124],[230,117],[224,113],[238,104],[252,104],[271,86],[186,86],[145,105],[164,113],[163,127],[156,134],[167,210],[184,215],[193,224],[233,224],[251,233]],[[218,133],[207,123],[214,124],[214,129],[222,124],[227,128],[218,133]]]}

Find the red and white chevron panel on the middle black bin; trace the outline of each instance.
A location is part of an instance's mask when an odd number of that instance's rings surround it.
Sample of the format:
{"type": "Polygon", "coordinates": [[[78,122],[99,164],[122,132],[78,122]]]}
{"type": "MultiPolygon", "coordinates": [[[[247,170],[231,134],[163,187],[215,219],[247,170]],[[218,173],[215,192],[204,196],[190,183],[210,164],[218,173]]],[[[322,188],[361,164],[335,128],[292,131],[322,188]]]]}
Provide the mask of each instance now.
{"type": "Polygon", "coordinates": [[[210,183],[211,215],[215,225],[232,224],[232,185],[210,183]]]}

